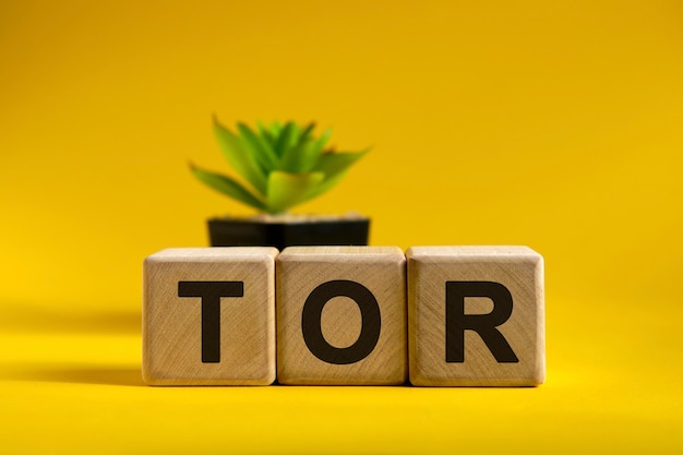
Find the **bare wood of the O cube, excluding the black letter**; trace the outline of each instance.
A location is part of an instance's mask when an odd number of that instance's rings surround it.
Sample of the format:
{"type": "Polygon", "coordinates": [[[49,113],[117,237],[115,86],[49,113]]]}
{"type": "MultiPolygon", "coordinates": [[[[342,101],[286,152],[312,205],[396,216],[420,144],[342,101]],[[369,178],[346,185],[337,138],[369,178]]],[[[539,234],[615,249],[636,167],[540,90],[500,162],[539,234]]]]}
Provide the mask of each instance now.
{"type": "MultiPolygon", "coordinates": [[[[407,380],[406,258],[398,248],[292,247],[277,258],[277,379],[281,384],[392,385],[407,380]],[[320,285],[356,282],[376,299],[381,330],[361,360],[335,364],[316,357],[303,338],[302,312],[320,285]]],[[[346,348],[359,339],[360,306],[348,297],[327,300],[320,316],[325,340],[346,348]]]]}

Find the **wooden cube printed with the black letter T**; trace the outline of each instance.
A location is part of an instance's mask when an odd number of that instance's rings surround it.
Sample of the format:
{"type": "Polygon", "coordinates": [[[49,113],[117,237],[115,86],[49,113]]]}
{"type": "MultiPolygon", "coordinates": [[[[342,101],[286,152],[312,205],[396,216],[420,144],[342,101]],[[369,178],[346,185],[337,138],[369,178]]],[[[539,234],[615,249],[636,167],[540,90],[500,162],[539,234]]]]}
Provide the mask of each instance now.
{"type": "Polygon", "coordinates": [[[275,248],[188,248],[145,259],[144,381],[273,383],[277,253],[275,248]]]}

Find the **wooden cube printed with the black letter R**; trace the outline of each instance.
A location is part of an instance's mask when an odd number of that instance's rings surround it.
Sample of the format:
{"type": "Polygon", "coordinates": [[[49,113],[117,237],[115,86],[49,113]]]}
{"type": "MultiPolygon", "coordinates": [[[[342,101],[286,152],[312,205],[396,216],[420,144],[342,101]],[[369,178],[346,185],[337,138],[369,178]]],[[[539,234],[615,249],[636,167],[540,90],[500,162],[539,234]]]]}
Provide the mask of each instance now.
{"type": "Polygon", "coordinates": [[[538,385],[543,259],[526,247],[408,249],[410,382],[538,385]]]}

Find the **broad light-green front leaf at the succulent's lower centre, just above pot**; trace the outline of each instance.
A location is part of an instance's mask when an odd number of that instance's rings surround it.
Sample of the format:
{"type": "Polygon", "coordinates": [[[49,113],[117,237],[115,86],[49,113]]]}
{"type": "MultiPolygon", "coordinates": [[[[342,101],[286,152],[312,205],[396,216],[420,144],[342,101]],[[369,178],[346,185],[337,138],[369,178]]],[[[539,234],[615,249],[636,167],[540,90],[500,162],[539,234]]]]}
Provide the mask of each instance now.
{"type": "Polygon", "coordinates": [[[308,199],[324,178],[322,172],[272,172],[268,176],[267,211],[273,214],[286,212],[308,199]]]}

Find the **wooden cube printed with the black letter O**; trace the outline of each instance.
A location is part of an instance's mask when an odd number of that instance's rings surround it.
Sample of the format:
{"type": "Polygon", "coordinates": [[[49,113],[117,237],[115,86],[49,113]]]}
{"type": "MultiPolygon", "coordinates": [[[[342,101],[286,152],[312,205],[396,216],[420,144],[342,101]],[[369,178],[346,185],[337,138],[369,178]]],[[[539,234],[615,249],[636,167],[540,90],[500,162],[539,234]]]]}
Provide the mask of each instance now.
{"type": "Polygon", "coordinates": [[[406,318],[400,249],[287,248],[277,258],[277,379],[403,384],[406,318]]]}

